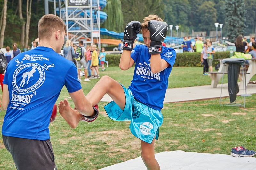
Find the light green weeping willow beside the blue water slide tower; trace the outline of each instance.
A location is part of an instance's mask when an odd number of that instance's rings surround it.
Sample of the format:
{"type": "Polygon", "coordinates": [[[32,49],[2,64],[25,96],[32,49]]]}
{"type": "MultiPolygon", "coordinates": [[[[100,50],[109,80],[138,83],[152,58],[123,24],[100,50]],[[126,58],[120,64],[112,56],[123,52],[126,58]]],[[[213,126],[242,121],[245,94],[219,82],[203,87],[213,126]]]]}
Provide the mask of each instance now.
{"type": "Polygon", "coordinates": [[[107,20],[103,23],[103,27],[111,31],[120,32],[123,27],[123,13],[121,10],[120,0],[110,0],[104,11],[108,14],[107,20]]]}

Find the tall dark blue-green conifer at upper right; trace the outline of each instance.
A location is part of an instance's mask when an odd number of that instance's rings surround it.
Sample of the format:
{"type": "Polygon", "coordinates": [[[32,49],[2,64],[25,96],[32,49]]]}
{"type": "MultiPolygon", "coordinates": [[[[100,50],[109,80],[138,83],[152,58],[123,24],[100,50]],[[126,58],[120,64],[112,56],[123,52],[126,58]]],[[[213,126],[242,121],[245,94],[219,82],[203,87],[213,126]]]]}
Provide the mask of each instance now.
{"type": "Polygon", "coordinates": [[[225,0],[227,36],[230,41],[245,33],[245,3],[244,0],[225,0]]]}

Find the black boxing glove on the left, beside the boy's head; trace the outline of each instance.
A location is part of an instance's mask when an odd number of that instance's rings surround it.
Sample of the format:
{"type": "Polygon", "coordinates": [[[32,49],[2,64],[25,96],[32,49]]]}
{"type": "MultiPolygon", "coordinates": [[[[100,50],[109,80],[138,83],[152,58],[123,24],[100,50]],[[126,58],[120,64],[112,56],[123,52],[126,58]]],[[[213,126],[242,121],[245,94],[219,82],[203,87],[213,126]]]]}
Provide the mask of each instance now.
{"type": "Polygon", "coordinates": [[[139,21],[129,22],[124,30],[124,42],[123,50],[132,51],[134,40],[137,37],[137,34],[141,31],[141,24],[139,21]]]}

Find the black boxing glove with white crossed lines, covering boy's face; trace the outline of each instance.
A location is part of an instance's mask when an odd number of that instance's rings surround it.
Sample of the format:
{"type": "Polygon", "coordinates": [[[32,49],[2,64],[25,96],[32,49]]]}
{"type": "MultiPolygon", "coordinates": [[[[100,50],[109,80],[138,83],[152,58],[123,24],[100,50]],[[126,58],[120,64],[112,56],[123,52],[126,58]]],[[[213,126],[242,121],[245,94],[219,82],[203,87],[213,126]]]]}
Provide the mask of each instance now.
{"type": "Polygon", "coordinates": [[[152,20],[148,22],[148,30],[150,32],[150,54],[161,54],[162,53],[162,42],[164,41],[168,25],[162,21],[152,20]]]}

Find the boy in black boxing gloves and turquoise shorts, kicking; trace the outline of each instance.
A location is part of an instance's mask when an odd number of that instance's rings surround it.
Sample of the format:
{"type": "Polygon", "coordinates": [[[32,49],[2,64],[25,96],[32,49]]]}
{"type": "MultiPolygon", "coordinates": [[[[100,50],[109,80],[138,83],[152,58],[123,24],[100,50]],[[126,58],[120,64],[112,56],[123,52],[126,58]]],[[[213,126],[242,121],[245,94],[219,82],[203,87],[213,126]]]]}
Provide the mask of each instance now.
{"type": "MultiPolygon", "coordinates": [[[[162,21],[156,15],[149,15],[142,24],[131,21],[126,26],[119,67],[127,70],[135,63],[133,80],[128,88],[103,76],[86,96],[92,105],[100,102],[105,94],[113,99],[104,107],[108,117],[116,121],[131,121],[131,133],[141,140],[143,162],[148,169],[154,170],[160,169],[154,155],[154,142],[163,123],[161,109],[176,58],[174,49],[162,46],[168,29],[162,21]],[[145,45],[138,44],[133,49],[141,27],[145,45]]],[[[70,110],[69,105],[62,104],[60,108],[61,111],[70,110]]],[[[62,115],[72,117],[79,116],[79,113],[63,111],[62,115]]],[[[79,119],[73,123],[78,124],[79,119]]]]}

